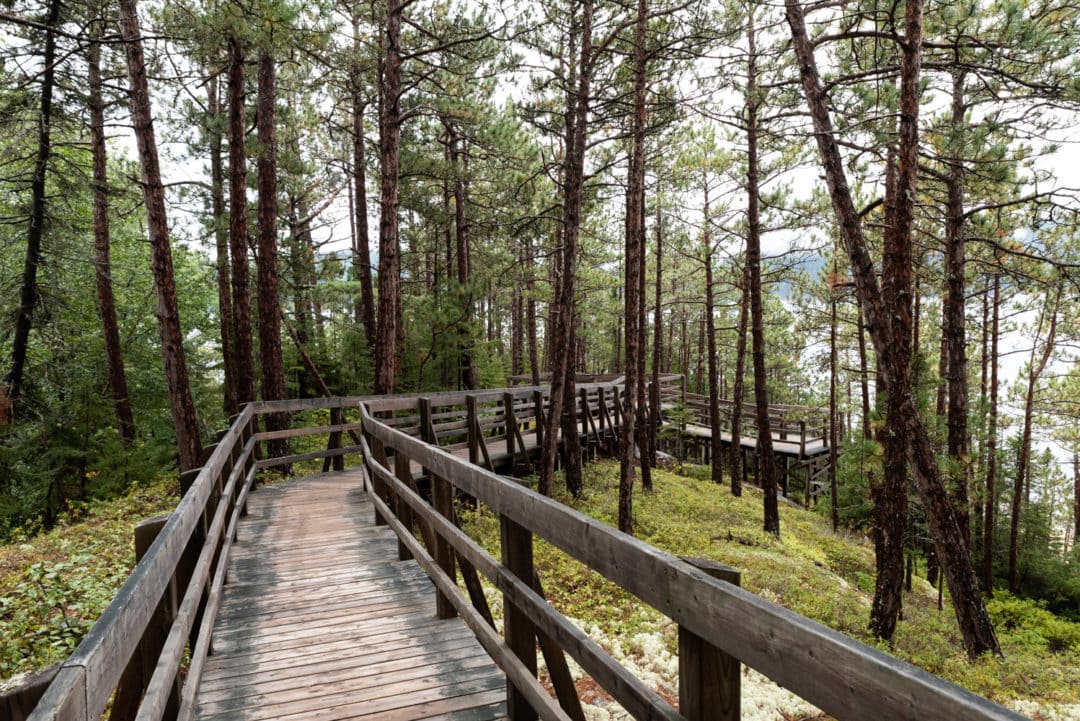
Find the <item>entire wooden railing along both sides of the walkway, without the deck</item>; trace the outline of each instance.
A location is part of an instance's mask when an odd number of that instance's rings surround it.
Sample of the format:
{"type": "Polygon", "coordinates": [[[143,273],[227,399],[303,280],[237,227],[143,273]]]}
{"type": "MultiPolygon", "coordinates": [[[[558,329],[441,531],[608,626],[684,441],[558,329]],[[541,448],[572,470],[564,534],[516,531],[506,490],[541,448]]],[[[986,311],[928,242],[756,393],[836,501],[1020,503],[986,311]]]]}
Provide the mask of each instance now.
{"type": "MultiPolygon", "coordinates": [[[[619,390],[604,383],[579,390],[578,418],[597,447],[618,426],[619,390]]],[[[491,465],[485,454],[502,444],[504,459],[524,463],[526,439],[542,428],[538,420],[548,412],[545,391],[248,405],[210,449],[204,467],[184,477],[176,511],[140,525],[138,564],[58,667],[29,718],[96,721],[111,703],[110,721],[190,721],[213,649],[226,562],[257,472],[314,460],[340,467],[346,457],[361,454],[364,482],[375,491],[378,517],[397,534],[399,556],[416,558],[436,586],[438,615],[460,615],[507,674],[514,721],[535,713],[583,718],[565,654],[639,719],[738,718],[740,662],[841,721],[1023,718],[742,590],[731,569],[671,556],[485,467],[491,465]],[[257,432],[259,417],[268,413],[296,413],[311,423],[257,432]],[[286,450],[281,458],[268,458],[264,449],[257,460],[260,443],[303,439],[310,448],[315,436],[327,437],[325,449],[286,450]],[[431,502],[418,492],[418,479],[430,481],[431,502]],[[458,527],[459,492],[498,514],[498,559],[458,527]],[[535,538],[679,625],[679,711],[544,600],[532,564],[535,538]],[[502,635],[495,630],[481,575],[503,594],[502,635]],[[536,680],[537,644],[555,698],[536,680]]]]}

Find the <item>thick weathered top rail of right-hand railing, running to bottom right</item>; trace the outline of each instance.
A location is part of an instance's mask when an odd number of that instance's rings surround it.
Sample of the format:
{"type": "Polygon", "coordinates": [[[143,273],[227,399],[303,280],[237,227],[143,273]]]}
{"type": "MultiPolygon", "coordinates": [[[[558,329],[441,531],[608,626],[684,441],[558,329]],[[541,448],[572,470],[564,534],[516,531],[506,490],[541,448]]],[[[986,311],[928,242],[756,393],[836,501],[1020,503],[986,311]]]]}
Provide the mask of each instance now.
{"type": "MultiPolygon", "coordinates": [[[[681,627],[841,721],[1024,718],[401,433],[374,418],[364,405],[361,420],[370,438],[476,498],[507,521],[545,539],[681,627]]],[[[377,473],[374,467],[373,473],[377,473]]],[[[404,527],[399,528],[405,532],[404,527]]],[[[615,694],[619,689],[607,691],[615,694]]]]}

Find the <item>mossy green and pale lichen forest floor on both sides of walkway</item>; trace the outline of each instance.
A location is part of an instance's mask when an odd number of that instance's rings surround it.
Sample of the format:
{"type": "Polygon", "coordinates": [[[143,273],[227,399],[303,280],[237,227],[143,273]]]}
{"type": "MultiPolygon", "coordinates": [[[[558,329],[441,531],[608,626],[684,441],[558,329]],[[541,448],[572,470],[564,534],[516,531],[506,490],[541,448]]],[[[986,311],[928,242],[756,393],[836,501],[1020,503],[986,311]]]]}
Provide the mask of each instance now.
{"type": "MultiPolygon", "coordinates": [[[[710,558],[742,572],[744,588],[853,638],[866,632],[874,587],[868,540],[834,534],[826,518],[781,504],[781,538],[760,530],[761,493],[733,498],[707,479],[707,468],[653,472],[654,490],[635,493],[637,538],[683,556],[710,558]]],[[[615,525],[618,463],[585,470],[584,492],[559,500],[615,525]]],[[[66,657],[111,600],[132,564],[132,532],[177,501],[175,480],[162,480],[109,503],[79,508],[59,527],[0,546],[0,679],[66,657]]],[[[467,528],[489,548],[498,520],[483,511],[467,528]]],[[[538,541],[537,564],[549,600],[661,695],[677,699],[677,628],[598,574],[538,541]]],[[[499,596],[489,589],[492,610],[499,596]]],[[[879,648],[1038,721],[1080,721],[1080,624],[1037,604],[998,594],[989,603],[1004,658],[969,663],[948,607],[916,576],[904,596],[895,643],[879,648]]],[[[580,675],[580,669],[575,669],[580,675]]],[[[0,682],[0,686],[2,686],[0,682]]],[[[627,718],[604,692],[579,681],[591,721],[627,718]]],[[[743,679],[743,718],[791,720],[816,709],[754,671],[743,679]]]]}

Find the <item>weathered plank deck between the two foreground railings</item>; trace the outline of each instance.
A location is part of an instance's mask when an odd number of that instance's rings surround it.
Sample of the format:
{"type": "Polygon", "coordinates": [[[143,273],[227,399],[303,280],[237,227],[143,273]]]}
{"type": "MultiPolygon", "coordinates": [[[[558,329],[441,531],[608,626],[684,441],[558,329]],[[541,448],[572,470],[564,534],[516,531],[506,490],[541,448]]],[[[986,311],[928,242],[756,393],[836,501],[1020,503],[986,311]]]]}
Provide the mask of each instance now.
{"type": "Polygon", "coordinates": [[[258,489],[229,555],[197,718],[505,717],[505,676],[373,521],[359,470],[258,489]]]}

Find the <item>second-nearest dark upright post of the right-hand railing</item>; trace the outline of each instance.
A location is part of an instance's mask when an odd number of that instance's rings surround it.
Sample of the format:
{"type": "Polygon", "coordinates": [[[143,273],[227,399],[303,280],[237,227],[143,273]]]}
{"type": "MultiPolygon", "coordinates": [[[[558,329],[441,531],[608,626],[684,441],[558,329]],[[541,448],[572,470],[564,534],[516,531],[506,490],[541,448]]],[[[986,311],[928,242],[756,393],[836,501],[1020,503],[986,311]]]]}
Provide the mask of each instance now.
{"type": "MultiPolygon", "coordinates": [[[[528,585],[536,573],[532,568],[532,534],[505,516],[499,517],[502,562],[510,572],[528,585]]],[[[536,628],[528,615],[514,606],[508,596],[502,597],[503,630],[507,645],[514,652],[532,676],[537,675],[536,628]]],[[[537,712],[525,696],[507,679],[507,716],[510,721],[536,721],[537,712]]]]}

